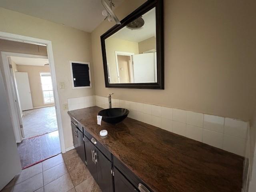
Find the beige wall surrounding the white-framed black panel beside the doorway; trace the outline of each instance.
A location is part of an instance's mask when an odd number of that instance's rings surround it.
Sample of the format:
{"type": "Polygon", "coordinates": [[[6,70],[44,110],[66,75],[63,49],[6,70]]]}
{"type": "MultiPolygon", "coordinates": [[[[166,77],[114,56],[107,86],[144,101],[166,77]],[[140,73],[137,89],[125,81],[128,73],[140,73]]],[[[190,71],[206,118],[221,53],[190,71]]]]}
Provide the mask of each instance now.
{"type": "Polygon", "coordinates": [[[57,83],[65,83],[64,89],[58,89],[65,147],[73,146],[70,118],[62,106],[68,98],[94,95],[92,65],[92,88],[74,90],[69,67],[69,60],[91,62],[90,33],[4,8],[0,8],[0,31],[52,41],[57,83]]]}

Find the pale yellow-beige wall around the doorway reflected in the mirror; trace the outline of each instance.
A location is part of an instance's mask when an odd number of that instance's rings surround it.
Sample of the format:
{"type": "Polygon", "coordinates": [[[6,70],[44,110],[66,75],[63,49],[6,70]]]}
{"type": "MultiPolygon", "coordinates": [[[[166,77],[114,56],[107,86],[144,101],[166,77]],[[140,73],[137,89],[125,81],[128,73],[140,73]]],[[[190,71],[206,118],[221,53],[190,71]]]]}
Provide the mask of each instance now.
{"type": "Polygon", "coordinates": [[[108,38],[106,39],[105,44],[111,83],[118,83],[115,51],[132,52],[134,54],[138,54],[138,43],[118,38],[108,38]]]}

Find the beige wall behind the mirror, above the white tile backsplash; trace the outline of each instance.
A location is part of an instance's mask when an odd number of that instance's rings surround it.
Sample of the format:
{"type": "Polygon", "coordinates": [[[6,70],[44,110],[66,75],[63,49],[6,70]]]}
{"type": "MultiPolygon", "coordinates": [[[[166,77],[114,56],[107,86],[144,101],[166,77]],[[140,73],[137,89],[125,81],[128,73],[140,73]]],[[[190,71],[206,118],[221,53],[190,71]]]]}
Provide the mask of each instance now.
{"type": "MultiPolygon", "coordinates": [[[[126,0],[119,19],[145,0],[126,0]]],[[[105,88],[100,35],[92,32],[95,93],[249,120],[256,104],[255,1],[164,0],[165,90],[105,88]],[[247,29],[247,30],[245,30],[247,29]]]]}

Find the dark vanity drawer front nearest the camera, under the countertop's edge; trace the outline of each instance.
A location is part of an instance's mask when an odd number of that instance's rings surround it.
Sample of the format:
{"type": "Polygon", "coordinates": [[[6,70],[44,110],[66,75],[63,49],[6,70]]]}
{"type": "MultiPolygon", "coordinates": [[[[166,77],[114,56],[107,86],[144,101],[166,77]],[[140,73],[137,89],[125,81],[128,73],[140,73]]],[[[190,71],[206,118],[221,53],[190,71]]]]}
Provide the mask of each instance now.
{"type": "MultiPolygon", "coordinates": [[[[144,183],[138,176],[136,176],[130,169],[128,169],[120,160],[113,156],[113,165],[120,171],[122,174],[138,188],[139,184],[144,185],[150,192],[152,190],[144,183]]],[[[138,190],[139,191],[139,190],[138,190]]]]}

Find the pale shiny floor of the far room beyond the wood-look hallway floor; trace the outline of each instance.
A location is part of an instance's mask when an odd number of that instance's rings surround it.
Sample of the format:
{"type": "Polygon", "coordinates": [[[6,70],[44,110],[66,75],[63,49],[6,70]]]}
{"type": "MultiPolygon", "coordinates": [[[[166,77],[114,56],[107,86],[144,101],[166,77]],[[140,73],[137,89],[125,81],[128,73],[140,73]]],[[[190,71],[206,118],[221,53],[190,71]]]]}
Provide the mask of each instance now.
{"type": "Polygon", "coordinates": [[[58,130],[55,106],[23,111],[22,123],[25,139],[58,130]]]}

